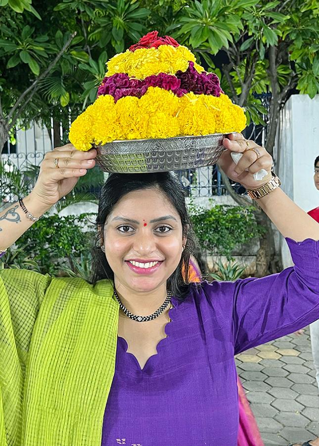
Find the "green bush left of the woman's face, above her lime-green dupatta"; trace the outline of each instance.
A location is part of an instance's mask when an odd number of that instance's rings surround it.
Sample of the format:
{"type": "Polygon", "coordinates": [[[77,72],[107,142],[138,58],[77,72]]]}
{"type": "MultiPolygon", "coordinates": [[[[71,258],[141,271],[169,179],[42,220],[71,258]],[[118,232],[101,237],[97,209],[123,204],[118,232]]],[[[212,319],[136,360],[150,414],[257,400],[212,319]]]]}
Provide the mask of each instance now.
{"type": "MultiPolygon", "coordinates": [[[[34,223],[15,244],[18,248],[23,247],[28,258],[37,262],[39,272],[57,276],[63,271],[63,258],[72,262],[73,258],[80,257],[81,253],[90,249],[94,219],[93,213],[45,216],[34,223]],[[85,225],[86,232],[83,230],[85,225]]],[[[15,263],[19,263],[19,259],[15,263]]]]}

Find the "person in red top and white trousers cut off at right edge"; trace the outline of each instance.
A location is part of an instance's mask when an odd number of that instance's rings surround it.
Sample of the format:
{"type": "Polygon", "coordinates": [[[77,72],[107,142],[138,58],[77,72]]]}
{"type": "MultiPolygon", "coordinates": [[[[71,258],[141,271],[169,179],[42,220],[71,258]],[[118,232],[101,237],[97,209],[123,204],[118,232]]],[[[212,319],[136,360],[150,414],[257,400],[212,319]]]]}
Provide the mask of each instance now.
{"type": "MultiPolygon", "coordinates": [[[[319,156],[315,160],[314,182],[316,188],[319,190],[319,156]]],[[[310,215],[310,217],[316,220],[316,222],[319,223],[319,206],[309,211],[308,214],[310,215]]],[[[311,350],[313,353],[313,360],[316,368],[316,380],[319,388],[319,319],[318,321],[315,321],[312,324],[310,324],[309,328],[310,328],[311,350]]],[[[301,332],[301,330],[299,330],[299,332],[301,332]]],[[[305,442],[302,444],[302,446],[319,446],[319,438],[305,442]]]]}

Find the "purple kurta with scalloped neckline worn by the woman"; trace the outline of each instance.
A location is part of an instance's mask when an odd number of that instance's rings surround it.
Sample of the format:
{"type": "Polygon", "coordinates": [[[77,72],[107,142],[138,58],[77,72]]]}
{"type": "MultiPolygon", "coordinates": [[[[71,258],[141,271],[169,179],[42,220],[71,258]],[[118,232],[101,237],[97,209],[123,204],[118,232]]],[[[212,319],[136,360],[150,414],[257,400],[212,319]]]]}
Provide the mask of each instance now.
{"type": "Polygon", "coordinates": [[[286,239],[295,267],[262,279],[201,282],[170,310],[141,370],[118,337],[102,446],[236,446],[234,355],[319,319],[319,241],[286,239]]]}

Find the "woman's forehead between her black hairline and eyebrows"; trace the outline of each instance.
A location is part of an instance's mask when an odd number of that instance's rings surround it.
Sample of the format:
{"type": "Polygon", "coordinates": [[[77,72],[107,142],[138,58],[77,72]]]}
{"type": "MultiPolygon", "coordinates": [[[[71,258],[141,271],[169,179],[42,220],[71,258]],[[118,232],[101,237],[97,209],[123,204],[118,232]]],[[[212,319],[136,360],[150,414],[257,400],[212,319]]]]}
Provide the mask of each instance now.
{"type": "Polygon", "coordinates": [[[151,220],[167,214],[171,214],[180,220],[177,210],[165,194],[158,190],[143,189],[124,195],[114,206],[109,219],[121,215],[137,220],[151,220]]]}

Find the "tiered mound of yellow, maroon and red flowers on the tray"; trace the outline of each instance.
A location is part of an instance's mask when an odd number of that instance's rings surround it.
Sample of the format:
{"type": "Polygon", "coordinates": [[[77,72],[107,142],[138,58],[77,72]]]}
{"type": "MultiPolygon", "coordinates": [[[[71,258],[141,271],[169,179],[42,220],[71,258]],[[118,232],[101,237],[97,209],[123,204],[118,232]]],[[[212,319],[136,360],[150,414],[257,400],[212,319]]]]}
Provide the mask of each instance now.
{"type": "Polygon", "coordinates": [[[71,143],[87,151],[114,140],[242,131],[244,111],[188,48],[157,31],[107,62],[97,99],[72,123],[71,143]]]}

